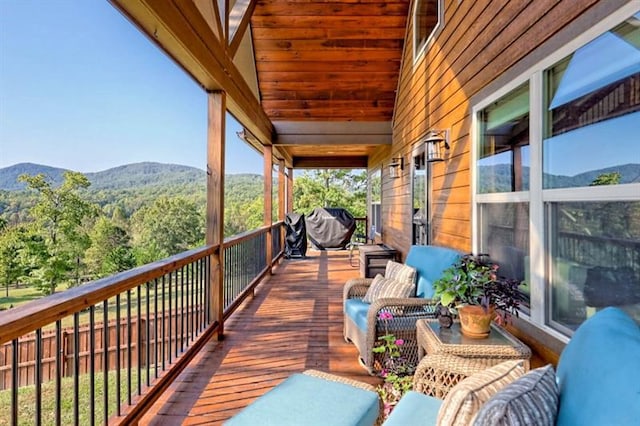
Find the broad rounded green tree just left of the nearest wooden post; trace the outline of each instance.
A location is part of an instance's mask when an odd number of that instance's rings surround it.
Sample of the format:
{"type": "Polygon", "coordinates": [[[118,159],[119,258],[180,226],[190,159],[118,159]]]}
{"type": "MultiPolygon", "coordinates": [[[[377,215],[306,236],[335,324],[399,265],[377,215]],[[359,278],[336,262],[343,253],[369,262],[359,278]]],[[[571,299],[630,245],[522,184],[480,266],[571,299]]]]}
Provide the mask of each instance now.
{"type": "Polygon", "coordinates": [[[138,264],[196,247],[204,242],[204,216],[195,202],[160,197],[132,216],[138,264]]]}

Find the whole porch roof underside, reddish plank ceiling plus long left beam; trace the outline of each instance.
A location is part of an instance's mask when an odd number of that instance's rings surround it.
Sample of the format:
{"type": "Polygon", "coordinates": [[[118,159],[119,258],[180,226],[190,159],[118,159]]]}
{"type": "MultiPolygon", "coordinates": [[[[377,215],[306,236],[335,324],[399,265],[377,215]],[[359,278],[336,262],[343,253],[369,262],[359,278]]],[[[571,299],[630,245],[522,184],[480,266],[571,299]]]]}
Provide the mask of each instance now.
{"type": "Polygon", "coordinates": [[[391,145],[409,0],[110,1],[287,166],[391,145]]]}

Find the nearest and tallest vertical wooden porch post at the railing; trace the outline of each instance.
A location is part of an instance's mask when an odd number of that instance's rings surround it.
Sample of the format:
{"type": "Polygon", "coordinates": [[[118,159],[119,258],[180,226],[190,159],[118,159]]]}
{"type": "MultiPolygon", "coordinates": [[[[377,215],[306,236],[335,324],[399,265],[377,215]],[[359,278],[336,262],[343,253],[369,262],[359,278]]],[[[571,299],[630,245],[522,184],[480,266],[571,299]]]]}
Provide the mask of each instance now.
{"type": "Polygon", "coordinates": [[[207,234],[208,244],[219,244],[217,265],[211,262],[211,315],[220,324],[219,337],[224,333],[224,154],[226,94],[208,94],[207,126],[207,234]]]}

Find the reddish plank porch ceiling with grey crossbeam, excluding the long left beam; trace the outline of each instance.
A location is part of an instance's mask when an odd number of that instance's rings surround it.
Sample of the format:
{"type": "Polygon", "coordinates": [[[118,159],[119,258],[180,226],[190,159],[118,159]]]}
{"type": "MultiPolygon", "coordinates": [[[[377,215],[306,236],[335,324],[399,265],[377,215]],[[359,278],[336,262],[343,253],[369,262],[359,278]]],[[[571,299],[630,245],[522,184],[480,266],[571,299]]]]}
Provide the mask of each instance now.
{"type": "MultiPolygon", "coordinates": [[[[259,0],[251,34],[260,102],[294,167],[391,143],[408,0],[259,0]]],[[[335,166],[345,164],[338,159],[335,166]]]]}

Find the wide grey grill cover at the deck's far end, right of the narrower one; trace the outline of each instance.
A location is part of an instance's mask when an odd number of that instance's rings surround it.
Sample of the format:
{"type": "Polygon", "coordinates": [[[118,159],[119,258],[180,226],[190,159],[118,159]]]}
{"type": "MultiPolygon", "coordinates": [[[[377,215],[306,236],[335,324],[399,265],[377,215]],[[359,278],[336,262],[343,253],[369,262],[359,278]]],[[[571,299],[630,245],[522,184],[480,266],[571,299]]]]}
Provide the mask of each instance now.
{"type": "Polygon", "coordinates": [[[346,248],[356,220],[342,208],[317,208],[306,218],[307,234],[318,250],[346,248]]]}

